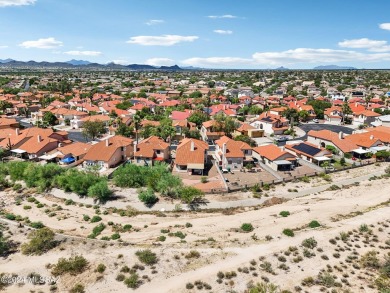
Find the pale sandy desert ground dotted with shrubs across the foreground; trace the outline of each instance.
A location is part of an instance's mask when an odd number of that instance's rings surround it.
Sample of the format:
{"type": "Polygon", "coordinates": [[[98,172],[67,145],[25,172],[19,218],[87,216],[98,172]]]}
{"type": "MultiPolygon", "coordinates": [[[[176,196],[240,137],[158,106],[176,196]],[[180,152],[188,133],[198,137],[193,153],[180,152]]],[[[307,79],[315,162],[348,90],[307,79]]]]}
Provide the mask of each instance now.
{"type": "Polygon", "coordinates": [[[56,232],[59,244],[42,255],[24,255],[18,246],[0,259],[0,273],[50,277],[60,258],[75,255],[88,266],[60,275],[56,283],[11,284],[3,290],[69,292],[81,284],[85,292],[245,292],[257,283],[273,283],[283,292],[378,292],[377,270],[364,256],[375,251],[381,262],[390,251],[390,179],[379,176],[387,166],[334,173],[331,182],[317,177],[277,185],[263,190],[260,199],[251,191],[207,197],[211,203],[252,205],[222,210],[185,211],[169,203],[176,210],[137,211],[131,190],[122,191],[117,207],[71,195],[66,201],[55,192],[6,190],[0,195],[4,234],[25,243],[34,230],[29,224],[41,222],[56,232]],[[6,219],[10,214],[17,219],[6,219]],[[312,221],[318,225],[310,227],[312,221]],[[88,238],[101,223],[100,234],[88,238]],[[247,231],[245,223],[252,225],[247,231]],[[309,238],[315,245],[307,248],[303,242],[309,238]],[[157,263],[140,262],[135,253],[145,249],[156,254],[157,263]],[[99,264],[104,272],[96,270],[99,264]],[[139,276],[135,289],[119,277],[131,274],[139,276]]]}

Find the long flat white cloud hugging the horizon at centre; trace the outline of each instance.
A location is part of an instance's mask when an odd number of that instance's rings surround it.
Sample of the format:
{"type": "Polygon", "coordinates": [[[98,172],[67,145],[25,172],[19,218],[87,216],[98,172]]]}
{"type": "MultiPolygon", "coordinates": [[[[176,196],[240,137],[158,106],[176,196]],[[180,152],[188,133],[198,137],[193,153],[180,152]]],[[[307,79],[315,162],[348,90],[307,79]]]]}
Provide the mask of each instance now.
{"type": "Polygon", "coordinates": [[[254,61],[252,59],[245,59],[240,57],[194,57],[183,60],[182,63],[191,66],[226,68],[229,66],[250,65],[253,64],[254,61]]]}

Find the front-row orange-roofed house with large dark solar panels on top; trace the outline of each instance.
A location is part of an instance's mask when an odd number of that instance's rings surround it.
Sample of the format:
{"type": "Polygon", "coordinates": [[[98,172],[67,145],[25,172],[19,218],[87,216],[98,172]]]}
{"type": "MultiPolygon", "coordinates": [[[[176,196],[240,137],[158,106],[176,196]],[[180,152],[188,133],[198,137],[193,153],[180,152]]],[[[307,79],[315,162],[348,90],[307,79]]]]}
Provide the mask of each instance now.
{"type": "Polygon", "coordinates": [[[331,151],[317,147],[309,142],[299,142],[295,144],[286,144],[285,150],[294,156],[303,160],[320,165],[323,162],[330,161],[333,157],[331,151]]]}

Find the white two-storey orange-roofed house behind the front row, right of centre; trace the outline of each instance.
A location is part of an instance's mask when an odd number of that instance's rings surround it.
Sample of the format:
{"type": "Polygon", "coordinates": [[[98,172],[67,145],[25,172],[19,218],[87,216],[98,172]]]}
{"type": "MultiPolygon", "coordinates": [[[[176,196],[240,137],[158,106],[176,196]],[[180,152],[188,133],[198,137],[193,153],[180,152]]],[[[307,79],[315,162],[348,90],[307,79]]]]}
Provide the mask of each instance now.
{"type": "Polygon", "coordinates": [[[266,134],[283,134],[289,128],[289,122],[286,118],[269,112],[261,113],[250,125],[256,129],[264,130],[266,134]]]}

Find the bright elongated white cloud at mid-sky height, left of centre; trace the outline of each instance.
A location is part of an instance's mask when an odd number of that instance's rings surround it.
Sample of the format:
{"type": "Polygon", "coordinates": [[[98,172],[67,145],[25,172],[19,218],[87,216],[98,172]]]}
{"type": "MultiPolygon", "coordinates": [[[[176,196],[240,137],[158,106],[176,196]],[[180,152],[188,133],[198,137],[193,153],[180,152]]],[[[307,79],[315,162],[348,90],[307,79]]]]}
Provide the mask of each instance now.
{"type": "Polygon", "coordinates": [[[131,37],[128,44],[138,44],[142,46],[173,46],[181,42],[193,42],[197,40],[197,36],[178,36],[178,35],[162,35],[162,36],[137,36],[131,37]]]}

